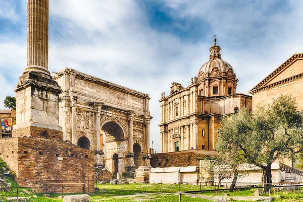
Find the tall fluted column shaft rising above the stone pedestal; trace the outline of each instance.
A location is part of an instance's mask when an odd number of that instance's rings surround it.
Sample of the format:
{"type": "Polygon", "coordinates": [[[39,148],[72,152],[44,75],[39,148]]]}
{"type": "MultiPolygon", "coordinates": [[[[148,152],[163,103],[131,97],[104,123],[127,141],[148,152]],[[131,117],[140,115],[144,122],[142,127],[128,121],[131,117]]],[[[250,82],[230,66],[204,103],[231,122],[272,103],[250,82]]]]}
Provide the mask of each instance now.
{"type": "Polygon", "coordinates": [[[24,74],[48,72],[48,0],[27,1],[27,66],[24,74]]]}

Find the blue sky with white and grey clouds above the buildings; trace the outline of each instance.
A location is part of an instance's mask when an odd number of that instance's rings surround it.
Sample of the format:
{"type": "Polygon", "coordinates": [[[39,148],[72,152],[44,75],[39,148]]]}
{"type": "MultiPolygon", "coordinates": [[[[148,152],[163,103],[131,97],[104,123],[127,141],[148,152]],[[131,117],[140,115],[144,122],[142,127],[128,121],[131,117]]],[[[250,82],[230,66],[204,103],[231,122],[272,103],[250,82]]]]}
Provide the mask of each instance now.
{"type": "MultiPolygon", "coordinates": [[[[49,0],[49,71],[65,67],[149,94],[160,152],[161,93],[188,86],[213,35],[248,91],[303,52],[302,1],[49,0]]],[[[26,0],[0,0],[0,108],[26,66],[26,0]]],[[[151,144],[150,144],[151,146],[151,144]]]]}

